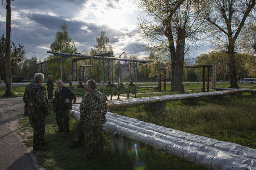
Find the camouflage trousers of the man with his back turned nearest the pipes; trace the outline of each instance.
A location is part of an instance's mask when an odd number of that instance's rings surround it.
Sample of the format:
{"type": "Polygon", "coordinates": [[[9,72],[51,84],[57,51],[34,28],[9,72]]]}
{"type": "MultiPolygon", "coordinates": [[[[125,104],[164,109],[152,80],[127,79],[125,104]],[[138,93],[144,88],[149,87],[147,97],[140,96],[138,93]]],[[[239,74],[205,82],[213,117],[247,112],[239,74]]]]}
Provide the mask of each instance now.
{"type": "Polygon", "coordinates": [[[85,154],[88,157],[93,156],[93,141],[95,137],[96,153],[103,153],[103,136],[102,136],[102,125],[101,126],[87,126],[83,122],[84,126],[84,138],[85,138],[85,154]]]}

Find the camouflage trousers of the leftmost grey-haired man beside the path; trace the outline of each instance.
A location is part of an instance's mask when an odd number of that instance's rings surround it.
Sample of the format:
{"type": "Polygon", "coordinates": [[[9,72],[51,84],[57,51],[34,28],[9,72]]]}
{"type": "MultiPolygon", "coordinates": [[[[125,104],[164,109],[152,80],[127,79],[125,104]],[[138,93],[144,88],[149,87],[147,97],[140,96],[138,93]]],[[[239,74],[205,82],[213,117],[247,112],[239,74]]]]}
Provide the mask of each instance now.
{"type": "Polygon", "coordinates": [[[33,148],[41,147],[44,141],[45,133],[45,117],[35,118],[29,116],[29,122],[33,132],[33,148]]]}

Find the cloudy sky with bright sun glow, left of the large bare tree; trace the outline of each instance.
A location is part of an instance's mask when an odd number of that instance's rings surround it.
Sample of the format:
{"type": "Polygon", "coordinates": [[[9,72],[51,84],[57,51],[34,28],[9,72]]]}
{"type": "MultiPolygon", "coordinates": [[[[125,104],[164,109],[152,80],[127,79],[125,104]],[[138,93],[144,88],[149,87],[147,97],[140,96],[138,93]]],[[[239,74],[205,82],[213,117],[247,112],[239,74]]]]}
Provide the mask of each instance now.
{"type": "MultiPolygon", "coordinates": [[[[5,1],[5,0],[4,0],[5,1]]],[[[148,56],[145,39],[137,27],[138,0],[14,0],[11,9],[11,40],[24,46],[26,57],[44,60],[60,26],[67,31],[79,52],[90,51],[106,32],[116,56],[148,56]],[[38,54],[39,53],[39,54],[38,54]]],[[[6,9],[0,6],[0,34],[6,34],[6,9]]],[[[192,53],[196,56],[199,49],[192,53]]]]}

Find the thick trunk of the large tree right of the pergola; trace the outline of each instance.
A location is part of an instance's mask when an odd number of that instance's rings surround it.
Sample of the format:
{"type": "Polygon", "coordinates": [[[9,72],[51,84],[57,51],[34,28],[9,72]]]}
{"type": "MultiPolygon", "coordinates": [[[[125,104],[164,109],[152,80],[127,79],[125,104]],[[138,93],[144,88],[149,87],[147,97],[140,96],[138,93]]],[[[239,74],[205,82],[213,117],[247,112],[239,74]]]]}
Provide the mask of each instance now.
{"type": "Polygon", "coordinates": [[[172,59],[171,91],[179,91],[182,93],[185,92],[184,87],[182,85],[183,64],[185,55],[185,37],[185,29],[178,29],[176,41],[176,55],[172,59]]]}

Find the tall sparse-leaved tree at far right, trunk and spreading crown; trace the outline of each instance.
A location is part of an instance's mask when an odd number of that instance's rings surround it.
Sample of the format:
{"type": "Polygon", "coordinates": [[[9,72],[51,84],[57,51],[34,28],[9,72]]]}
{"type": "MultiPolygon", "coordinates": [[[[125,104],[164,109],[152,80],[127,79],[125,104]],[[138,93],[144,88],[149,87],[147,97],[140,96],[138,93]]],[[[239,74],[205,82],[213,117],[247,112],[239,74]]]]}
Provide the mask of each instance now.
{"type": "Polygon", "coordinates": [[[213,42],[228,54],[230,88],[239,88],[236,76],[236,41],[256,0],[201,0],[201,14],[208,21],[213,42]]]}

